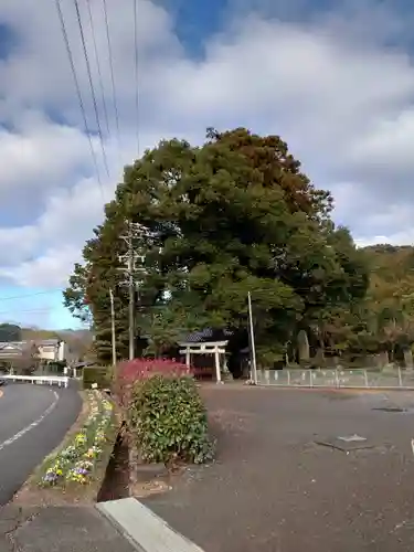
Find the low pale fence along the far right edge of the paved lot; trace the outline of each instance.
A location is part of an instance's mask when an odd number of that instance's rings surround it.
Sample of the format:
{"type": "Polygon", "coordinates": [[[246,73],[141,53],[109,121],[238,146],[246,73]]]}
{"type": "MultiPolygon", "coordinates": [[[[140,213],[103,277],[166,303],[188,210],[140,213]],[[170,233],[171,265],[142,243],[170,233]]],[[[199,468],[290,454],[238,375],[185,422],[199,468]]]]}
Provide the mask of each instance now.
{"type": "Polygon", "coordinates": [[[414,370],[258,370],[259,385],[280,388],[412,389],[414,370]]]}

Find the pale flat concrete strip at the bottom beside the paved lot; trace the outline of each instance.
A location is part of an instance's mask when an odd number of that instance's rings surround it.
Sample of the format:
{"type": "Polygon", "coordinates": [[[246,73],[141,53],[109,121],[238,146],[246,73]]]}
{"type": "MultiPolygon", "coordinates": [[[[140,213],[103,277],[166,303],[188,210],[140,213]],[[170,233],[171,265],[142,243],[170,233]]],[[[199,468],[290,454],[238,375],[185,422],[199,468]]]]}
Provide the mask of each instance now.
{"type": "Polygon", "coordinates": [[[96,508],[139,552],[204,552],[136,498],[99,502],[96,508]]]}

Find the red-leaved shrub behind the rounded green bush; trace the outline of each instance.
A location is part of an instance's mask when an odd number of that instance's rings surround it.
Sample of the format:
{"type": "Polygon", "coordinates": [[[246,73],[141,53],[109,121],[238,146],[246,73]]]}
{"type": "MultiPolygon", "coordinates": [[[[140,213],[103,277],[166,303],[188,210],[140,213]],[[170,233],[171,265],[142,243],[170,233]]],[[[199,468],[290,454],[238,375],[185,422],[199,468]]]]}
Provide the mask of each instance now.
{"type": "Polygon", "coordinates": [[[169,359],[134,359],[120,362],[115,372],[115,394],[121,406],[127,407],[134,384],[153,375],[179,378],[190,375],[189,368],[182,362],[169,359]]]}

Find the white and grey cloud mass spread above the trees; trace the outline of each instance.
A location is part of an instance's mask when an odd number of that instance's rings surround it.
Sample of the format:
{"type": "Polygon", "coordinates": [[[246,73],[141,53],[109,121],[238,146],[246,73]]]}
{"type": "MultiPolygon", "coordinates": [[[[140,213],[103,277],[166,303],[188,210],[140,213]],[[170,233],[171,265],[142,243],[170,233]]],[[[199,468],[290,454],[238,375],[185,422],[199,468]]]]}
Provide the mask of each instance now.
{"type": "MultiPolygon", "coordinates": [[[[94,126],[72,2],[62,3],[94,126]]],[[[102,2],[92,6],[113,130],[105,141],[110,178],[103,170],[97,138],[94,147],[109,200],[120,164],[102,2]]],[[[129,162],[136,153],[132,7],[125,0],[108,6],[121,160],[129,162]]],[[[21,42],[0,62],[0,123],[7,124],[0,127],[0,199],[7,199],[12,212],[26,197],[34,214],[17,227],[10,222],[0,226],[6,252],[0,276],[26,287],[60,286],[102,219],[102,190],[79,130],[81,112],[55,11],[45,0],[3,0],[1,21],[13,26],[21,42]],[[61,120],[51,120],[56,114],[61,120]]],[[[257,14],[237,17],[206,41],[205,56],[194,61],[180,45],[167,11],[141,0],[141,148],[174,135],[200,141],[208,126],[279,134],[316,183],[332,189],[337,216],[357,236],[368,242],[382,234],[410,241],[414,225],[408,214],[401,215],[401,205],[410,213],[414,203],[414,67],[406,52],[375,41],[380,33],[355,40],[359,22],[338,21],[321,18],[305,25],[265,21],[257,14]]],[[[386,18],[379,21],[386,25],[386,18]]],[[[391,23],[395,29],[395,18],[391,23]]],[[[93,50],[89,53],[96,71],[93,50]]],[[[96,93],[100,107],[98,86],[96,93]]]]}

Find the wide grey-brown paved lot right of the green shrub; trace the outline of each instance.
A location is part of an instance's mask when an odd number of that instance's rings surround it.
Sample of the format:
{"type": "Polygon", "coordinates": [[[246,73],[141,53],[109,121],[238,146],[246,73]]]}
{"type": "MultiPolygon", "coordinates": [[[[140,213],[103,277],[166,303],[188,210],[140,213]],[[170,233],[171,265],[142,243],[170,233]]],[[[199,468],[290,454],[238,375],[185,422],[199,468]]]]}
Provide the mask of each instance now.
{"type": "Polygon", "coordinates": [[[146,503],[205,552],[414,549],[414,393],[237,385],[202,393],[216,461],[146,503]],[[369,448],[316,444],[354,434],[369,448]]]}

